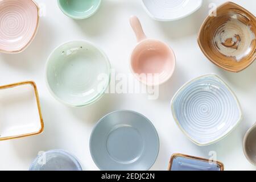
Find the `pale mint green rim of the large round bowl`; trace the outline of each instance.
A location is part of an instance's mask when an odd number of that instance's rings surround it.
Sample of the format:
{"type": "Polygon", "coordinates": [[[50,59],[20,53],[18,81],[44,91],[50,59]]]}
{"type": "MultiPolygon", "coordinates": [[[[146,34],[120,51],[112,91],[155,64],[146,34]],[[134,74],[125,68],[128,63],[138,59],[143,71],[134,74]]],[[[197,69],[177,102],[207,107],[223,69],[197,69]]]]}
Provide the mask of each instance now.
{"type": "Polygon", "coordinates": [[[109,61],[109,58],[108,56],[106,55],[106,53],[104,51],[102,51],[102,49],[100,49],[99,47],[95,46],[93,43],[87,41],[87,40],[71,40],[71,41],[68,41],[68,42],[64,42],[62,44],[60,44],[59,46],[57,46],[55,49],[53,49],[53,51],[51,52],[51,54],[48,56],[48,59],[47,59],[47,62],[46,62],[46,66],[44,68],[44,75],[45,75],[45,79],[46,79],[46,85],[47,85],[47,89],[49,90],[49,92],[51,93],[51,95],[59,102],[61,102],[62,104],[64,105],[67,105],[67,106],[71,106],[71,107],[84,107],[84,106],[89,106],[89,105],[92,105],[94,104],[95,102],[97,102],[98,100],[100,100],[100,98],[102,98],[104,96],[104,93],[106,91],[106,89],[108,89],[109,87],[109,84],[110,84],[110,80],[111,80],[111,64],[110,64],[110,61],[109,61]],[[48,64],[49,64],[49,59],[51,58],[51,56],[53,55],[53,53],[55,53],[55,51],[60,48],[61,46],[64,46],[65,44],[68,44],[68,43],[71,43],[71,42],[84,42],[86,44],[90,44],[90,46],[93,46],[94,48],[96,48],[104,57],[105,57],[105,62],[107,64],[107,67],[108,67],[108,71],[109,71],[109,81],[106,82],[106,85],[105,85],[105,88],[101,90],[101,92],[99,92],[95,97],[93,97],[91,100],[85,102],[84,104],[77,104],[77,105],[74,105],[74,104],[70,104],[69,102],[66,102],[66,101],[63,101],[61,100],[56,94],[55,92],[53,92],[53,90],[51,89],[51,86],[49,85],[49,82],[48,82],[48,77],[47,77],[47,70],[48,70],[48,64]]]}

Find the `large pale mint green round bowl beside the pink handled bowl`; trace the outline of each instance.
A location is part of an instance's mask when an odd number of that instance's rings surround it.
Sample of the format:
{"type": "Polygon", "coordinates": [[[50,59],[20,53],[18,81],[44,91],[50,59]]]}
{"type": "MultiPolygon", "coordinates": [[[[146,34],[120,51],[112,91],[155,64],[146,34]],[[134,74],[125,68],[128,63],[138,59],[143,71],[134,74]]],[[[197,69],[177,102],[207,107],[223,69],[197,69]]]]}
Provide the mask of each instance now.
{"type": "Polygon", "coordinates": [[[57,47],[46,64],[49,91],[60,102],[81,107],[98,101],[110,81],[108,57],[92,43],[76,40],[57,47]]]}

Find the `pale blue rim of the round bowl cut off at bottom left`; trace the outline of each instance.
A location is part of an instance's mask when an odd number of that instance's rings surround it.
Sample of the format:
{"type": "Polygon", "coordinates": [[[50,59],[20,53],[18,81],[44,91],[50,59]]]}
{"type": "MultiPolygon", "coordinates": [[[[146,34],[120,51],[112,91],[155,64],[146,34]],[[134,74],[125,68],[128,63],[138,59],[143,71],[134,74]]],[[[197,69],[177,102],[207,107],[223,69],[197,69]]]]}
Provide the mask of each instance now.
{"type": "MultiPolygon", "coordinates": [[[[53,149],[53,150],[48,150],[48,151],[46,151],[46,152],[44,152],[44,153],[45,153],[45,154],[47,154],[47,153],[63,154],[63,155],[65,155],[65,156],[67,156],[68,158],[70,158],[70,159],[72,160],[72,162],[75,163],[75,165],[76,165],[76,167],[77,167],[77,169],[78,169],[79,171],[82,171],[82,166],[81,166],[79,160],[76,158],[76,156],[70,154],[69,152],[67,152],[67,151],[65,151],[65,150],[62,150],[62,149],[53,149]]],[[[36,158],[33,160],[33,162],[30,164],[30,167],[28,168],[28,171],[33,171],[33,168],[34,168],[34,166],[36,165],[36,162],[37,162],[39,156],[41,156],[41,155],[37,155],[36,158]]]]}

